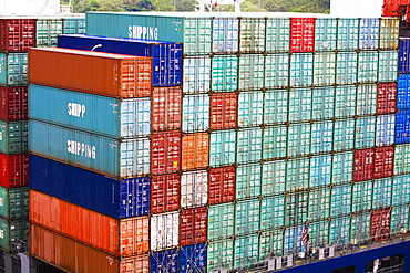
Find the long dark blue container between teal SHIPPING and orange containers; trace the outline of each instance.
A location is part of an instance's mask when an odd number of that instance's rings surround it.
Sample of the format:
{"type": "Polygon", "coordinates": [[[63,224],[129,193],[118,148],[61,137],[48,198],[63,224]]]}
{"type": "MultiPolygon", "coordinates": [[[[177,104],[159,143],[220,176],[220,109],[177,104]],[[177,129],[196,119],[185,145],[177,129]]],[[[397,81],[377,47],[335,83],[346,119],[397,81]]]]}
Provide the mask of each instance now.
{"type": "Polygon", "coordinates": [[[116,180],[34,155],[29,160],[31,189],[115,219],[150,213],[147,177],[116,180]]]}

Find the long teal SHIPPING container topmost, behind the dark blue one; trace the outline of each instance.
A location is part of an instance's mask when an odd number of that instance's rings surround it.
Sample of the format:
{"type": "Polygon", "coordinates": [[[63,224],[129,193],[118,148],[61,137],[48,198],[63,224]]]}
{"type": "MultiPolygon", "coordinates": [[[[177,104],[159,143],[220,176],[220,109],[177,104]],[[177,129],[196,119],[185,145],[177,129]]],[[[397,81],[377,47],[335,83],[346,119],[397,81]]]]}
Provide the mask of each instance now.
{"type": "Polygon", "coordinates": [[[86,34],[183,42],[184,54],[212,52],[212,18],[198,13],[88,12],[86,34]]]}

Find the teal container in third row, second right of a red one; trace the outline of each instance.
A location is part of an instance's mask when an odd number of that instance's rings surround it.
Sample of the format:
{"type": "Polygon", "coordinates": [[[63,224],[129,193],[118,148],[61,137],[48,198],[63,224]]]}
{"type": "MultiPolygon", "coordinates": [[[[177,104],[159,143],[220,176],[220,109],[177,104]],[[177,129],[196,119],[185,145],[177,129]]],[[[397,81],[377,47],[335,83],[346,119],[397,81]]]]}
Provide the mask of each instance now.
{"type": "Polygon", "coordinates": [[[288,97],[286,90],[268,90],[265,92],[264,124],[285,123],[288,119],[288,97]]]}

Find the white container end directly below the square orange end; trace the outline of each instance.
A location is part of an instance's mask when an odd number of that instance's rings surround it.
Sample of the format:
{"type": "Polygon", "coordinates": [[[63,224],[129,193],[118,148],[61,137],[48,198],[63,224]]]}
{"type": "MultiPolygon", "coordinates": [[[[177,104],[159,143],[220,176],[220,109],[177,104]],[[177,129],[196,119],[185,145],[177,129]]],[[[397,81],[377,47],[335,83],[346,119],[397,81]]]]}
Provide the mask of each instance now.
{"type": "Polygon", "coordinates": [[[206,170],[181,175],[181,208],[205,207],[208,203],[208,174],[206,170]]]}

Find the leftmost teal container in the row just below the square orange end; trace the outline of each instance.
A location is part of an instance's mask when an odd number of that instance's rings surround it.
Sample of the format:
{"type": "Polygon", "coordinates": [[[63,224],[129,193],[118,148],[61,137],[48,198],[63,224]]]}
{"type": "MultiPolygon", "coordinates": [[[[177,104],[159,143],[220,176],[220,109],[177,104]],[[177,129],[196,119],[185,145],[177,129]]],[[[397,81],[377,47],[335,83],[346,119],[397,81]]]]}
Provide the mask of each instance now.
{"type": "MultiPolygon", "coordinates": [[[[236,167],[236,200],[259,197],[262,179],[260,164],[238,165],[236,167]]],[[[269,177],[268,179],[273,179],[273,177],[269,177]]]]}

